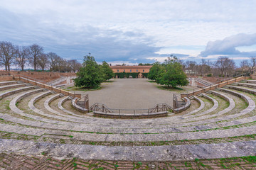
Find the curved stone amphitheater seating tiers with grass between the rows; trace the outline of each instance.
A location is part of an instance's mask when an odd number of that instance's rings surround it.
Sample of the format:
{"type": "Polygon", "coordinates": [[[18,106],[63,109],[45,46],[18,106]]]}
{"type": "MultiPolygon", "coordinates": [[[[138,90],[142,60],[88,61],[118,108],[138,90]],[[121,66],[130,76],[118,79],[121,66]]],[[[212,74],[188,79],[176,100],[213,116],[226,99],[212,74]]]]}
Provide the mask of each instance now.
{"type": "Polygon", "coordinates": [[[73,108],[77,98],[0,82],[0,151],[147,161],[256,154],[256,86],[247,82],[193,96],[199,106],[184,113],[132,120],[95,118],[73,108]]]}

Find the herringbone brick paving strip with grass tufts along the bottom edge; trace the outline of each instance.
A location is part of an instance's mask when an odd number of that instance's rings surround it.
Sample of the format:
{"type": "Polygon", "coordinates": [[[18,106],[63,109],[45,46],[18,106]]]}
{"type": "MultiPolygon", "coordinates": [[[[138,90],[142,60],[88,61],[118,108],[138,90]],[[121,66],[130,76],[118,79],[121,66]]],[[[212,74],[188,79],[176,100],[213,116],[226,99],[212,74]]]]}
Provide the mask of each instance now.
{"type": "Polygon", "coordinates": [[[256,169],[256,157],[195,159],[185,162],[128,162],[88,159],[55,159],[48,155],[0,154],[0,169],[256,169]]]}

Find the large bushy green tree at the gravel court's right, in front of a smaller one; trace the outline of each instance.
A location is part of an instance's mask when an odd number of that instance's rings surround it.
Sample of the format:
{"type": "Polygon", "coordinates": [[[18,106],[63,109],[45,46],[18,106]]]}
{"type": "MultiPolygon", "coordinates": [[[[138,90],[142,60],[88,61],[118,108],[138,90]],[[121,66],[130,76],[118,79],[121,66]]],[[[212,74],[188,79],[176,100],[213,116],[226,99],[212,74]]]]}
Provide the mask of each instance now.
{"type": "Polygon", "coordinates": [[[178,62],[177,57],[171,56],[164,62],[164,67],[159,70],[159,76],[156,83],[166,86],[186,86],[188,80],[183,72],[182,65],[178,62]]]}

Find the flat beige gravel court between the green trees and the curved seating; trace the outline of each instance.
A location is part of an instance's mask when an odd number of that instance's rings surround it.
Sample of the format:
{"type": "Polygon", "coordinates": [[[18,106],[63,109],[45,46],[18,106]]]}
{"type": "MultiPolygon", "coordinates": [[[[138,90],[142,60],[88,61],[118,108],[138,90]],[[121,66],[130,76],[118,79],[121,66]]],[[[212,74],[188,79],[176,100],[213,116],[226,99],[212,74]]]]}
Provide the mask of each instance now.
{"type": "Polygon", "coordinates": [[[148,79],[114,79],[112,83],[102,84],[102,89],[86,91],[90,106],[103,103],[109,108],[153,108],[157,103],[172,106],[173,92],[158,89],[148,79]]]}

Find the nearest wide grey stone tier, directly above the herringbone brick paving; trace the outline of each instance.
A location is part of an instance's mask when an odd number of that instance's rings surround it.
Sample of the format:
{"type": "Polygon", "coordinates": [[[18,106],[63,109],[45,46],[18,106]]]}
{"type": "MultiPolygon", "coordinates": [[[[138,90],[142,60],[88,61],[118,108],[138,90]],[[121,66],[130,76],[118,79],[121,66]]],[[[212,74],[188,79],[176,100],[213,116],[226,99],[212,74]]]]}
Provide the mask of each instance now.
{"type": "Polygon", "coordinates": [[[0,139],[0,152],[4,153],[29,155],[46,153],[50,157],[58,157],[60,159],[77,157],[78,159],[127,161],[183,161],[196,158],[244,157],[255,155],[255,146],[255,140],[201,145],[108,147],[0,139]]]}

